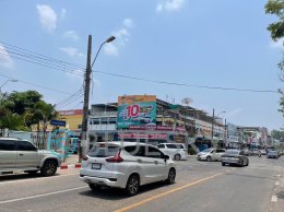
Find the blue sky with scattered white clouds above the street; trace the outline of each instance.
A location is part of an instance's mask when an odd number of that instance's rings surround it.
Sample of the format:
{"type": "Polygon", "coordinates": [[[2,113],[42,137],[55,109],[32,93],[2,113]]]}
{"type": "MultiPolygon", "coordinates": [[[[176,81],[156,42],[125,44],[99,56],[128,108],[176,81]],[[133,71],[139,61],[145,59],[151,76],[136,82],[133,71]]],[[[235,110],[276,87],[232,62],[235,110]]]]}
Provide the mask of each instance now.
{"type": "MultiPolygon", "coordinates": [[[[19,82],[8,82],[1,90],[37,90],[47,102],[62,103],[82,87],[80,69],[86,63],[87,36],[93,36],[94,58],[99,45],[115,35],[116,40],[104,45],[94,71],[191,85],[276,91],[283,87],[276,67],[283,47],[273,43],[267,31],[276,19],[264,13],[265,2],[2,0],[0,83],[9,78],[19,82]],[[69,67],[69,72],[63,72],[19,60],[7,44],[79,64],[80,69],[69,67]]],[[[235,125],[270,130],[283,127],[276,93],[155,84],[97,72],[93,84],[92,104],[116,102],[123,94],[155,94],[176,104],[190,97],[192,107],[209,114],[213,108],[216,114],[225,110],[222,117],[235,125]]],[[[59,109],[81,108],[82,101],[74,95],[59,109]]]]}

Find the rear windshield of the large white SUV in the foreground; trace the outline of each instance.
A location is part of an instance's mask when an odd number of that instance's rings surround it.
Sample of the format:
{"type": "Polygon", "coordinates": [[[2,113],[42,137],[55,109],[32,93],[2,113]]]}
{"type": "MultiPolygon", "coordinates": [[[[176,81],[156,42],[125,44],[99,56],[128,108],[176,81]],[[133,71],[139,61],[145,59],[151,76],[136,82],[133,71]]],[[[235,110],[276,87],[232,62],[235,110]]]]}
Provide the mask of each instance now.
{"type": "Polygon", "coordinates": [[[115,156],[115,154],[118,152],[119,146],[117,145],[96,145],[93,146],[88,151],[88,156],[91,157],[108,157],[108,156],[115,156]]]}

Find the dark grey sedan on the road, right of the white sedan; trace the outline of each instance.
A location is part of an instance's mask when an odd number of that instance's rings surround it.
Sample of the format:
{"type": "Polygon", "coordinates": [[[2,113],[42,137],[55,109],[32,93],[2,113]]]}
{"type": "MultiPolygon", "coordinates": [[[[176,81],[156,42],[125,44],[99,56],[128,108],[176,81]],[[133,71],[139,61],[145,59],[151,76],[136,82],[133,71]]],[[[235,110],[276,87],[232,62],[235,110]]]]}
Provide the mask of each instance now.
{"type": "Polygon", "coordinates": [[[232,165],[240,165],[240,166],[248,166],[249,158],[245,155],[242,150],[226,150],[225,154],[221,156],[221,163],[223,166],[226,164],[232,165]]]}

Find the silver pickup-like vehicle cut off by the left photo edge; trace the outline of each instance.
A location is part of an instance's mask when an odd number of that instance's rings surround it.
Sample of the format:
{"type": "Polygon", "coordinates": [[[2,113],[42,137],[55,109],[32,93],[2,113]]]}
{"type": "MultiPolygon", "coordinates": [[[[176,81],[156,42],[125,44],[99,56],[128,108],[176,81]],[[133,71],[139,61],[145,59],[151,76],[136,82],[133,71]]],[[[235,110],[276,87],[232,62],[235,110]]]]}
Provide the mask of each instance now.
{"type": "Polygon", "coordinates": [[[0,175],[14,172],[51,176],[61,158],[50,151],[38,150],[32,142],[16,138],[0,138],[0,175]]]}

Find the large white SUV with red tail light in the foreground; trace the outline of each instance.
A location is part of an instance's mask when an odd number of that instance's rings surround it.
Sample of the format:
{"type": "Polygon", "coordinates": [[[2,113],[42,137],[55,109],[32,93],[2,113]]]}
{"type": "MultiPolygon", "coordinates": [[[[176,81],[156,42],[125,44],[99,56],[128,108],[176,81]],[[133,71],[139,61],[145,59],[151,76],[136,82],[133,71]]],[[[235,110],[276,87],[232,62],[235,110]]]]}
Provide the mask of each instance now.
{"type": "Polygon", "coordinates": [[[158,149],[145,143],[96,143],[83,157],[80,179],[92,190],[100,186],[126,189],[137,195],[142,185],[166,180],[174,184],[175,162],[158,149]]]}

